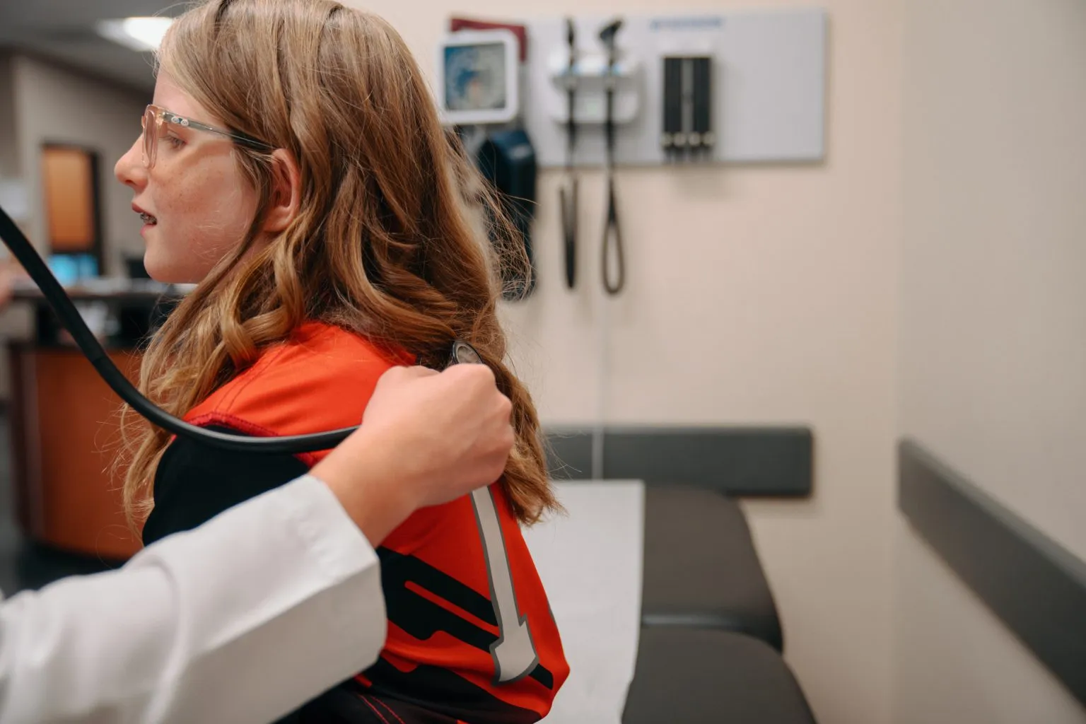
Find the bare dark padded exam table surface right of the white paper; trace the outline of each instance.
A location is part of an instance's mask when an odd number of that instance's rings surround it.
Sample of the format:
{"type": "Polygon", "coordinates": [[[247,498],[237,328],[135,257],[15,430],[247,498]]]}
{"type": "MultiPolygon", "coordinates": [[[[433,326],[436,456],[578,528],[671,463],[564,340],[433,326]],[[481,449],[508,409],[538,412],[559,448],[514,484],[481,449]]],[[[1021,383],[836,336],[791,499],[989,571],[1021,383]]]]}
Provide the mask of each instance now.
{"type": "Polygon", "coordinates": [[[642,630],[622,724],[812,724],[738,504],[645,488],[642,630]]]}

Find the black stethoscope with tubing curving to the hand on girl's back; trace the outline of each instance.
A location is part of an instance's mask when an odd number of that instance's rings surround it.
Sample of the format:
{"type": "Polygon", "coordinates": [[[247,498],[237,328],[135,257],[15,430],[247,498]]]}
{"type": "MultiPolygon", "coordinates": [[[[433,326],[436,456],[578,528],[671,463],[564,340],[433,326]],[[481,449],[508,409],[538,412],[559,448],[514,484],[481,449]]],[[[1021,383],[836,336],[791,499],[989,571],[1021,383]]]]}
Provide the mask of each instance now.
{"type": "MultiPolygon", "coordinates": [[[[175,435],[197,439],[209,445],[225,449],[243,450],[247,453],[289,454],[331,449],[358,429],[358,425],[355,425],[307,435],[247,437],[244,435],[233,435],[198,428],[194,424],[189,424],[169,415],[140,394],[139,390],[121,373],[121,370],[110,359],[105,350],[102,348],[98,338],[87,327],[75,304],[73,304],[60,282],[56,281],[56,277],[50,271],[49,266],[38,255],[34,245],[23,236],[23,232],[18,230],[18,227],[15,226],[15,223],[12,221],[3,208],[0,208],[0,239],[3,240],[4,245],[18,259],[18,263],[23,265],[30,279],[41,290],[49,306],[52,307],[53,312],[60,318],[61,323],[72,334],[72,339],[75,340],[84,356],[98,370],[99,376],[117,393],[121,399],[128,403],[134,410],[147,418],[152,424],[167,430],[175,435]]],[[[446,366],[462,363],[481,364],[482,358],[470,344],[462,340],[455,340],[452,344],[446,366]]]]}

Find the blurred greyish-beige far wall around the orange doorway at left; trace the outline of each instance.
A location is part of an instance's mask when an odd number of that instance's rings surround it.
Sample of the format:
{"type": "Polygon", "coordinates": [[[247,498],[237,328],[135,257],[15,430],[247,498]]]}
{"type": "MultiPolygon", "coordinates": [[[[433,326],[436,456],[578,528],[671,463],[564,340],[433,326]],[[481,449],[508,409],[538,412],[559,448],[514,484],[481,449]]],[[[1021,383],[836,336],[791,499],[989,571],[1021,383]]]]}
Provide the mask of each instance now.
{"type": "Polygon", "coordinates": [[[150,99],[26,56],[13,59],[13,75],[20,164],[30,194],[30,241],[45,244],[41,144],[86,145],[99,152],[106,270],[118,270],[119,250],[140,253],[142,240],[132,194],[117,183],[113,164],[139,136],[140,114],[150,99]]]}

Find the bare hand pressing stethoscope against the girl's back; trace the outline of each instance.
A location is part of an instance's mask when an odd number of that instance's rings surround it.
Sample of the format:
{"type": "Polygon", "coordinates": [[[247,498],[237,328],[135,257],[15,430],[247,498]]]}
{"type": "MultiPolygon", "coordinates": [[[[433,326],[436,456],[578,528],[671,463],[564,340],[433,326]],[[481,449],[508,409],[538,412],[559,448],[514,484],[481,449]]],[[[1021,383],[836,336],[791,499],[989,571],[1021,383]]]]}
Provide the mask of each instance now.
{"type": "Polygon", "coordinates": [[[378,381],[362,427],[312,474],[376,546],[416,509],[501,478],[515,442],[512,410],[485,365],[395,367],[378,381]]]}

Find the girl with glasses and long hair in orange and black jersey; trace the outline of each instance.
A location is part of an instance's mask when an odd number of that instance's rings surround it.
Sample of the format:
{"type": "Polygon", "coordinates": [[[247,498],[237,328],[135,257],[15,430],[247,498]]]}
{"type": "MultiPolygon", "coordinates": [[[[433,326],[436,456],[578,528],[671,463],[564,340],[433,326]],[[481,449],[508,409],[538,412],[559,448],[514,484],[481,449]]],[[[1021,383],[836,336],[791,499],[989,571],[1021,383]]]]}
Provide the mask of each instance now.
{"type": "MultiPolygon", "coordinates": [[[[200,4],[163,41],[143,134],[116,175],[143,218],[151,276],[199,282],[143,358],[141,386],[167,410],[250,435],[349,427],[384,370],[442,366],[456,339],[514,403],[504,477],[418,511],[379,549],[380,661],[292,721],[542,719],[569,669],[519,529],[555,501],[535,410],[503,363],[501,290],[476,224],[502,216],[400,36],[331,0],[200,4]]],[[[149,427],[132,446],[125,500],[146,516],[146,543],[321,457],[224,452],[149,427]]]]}

